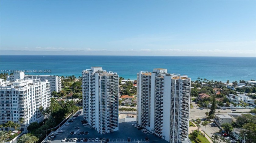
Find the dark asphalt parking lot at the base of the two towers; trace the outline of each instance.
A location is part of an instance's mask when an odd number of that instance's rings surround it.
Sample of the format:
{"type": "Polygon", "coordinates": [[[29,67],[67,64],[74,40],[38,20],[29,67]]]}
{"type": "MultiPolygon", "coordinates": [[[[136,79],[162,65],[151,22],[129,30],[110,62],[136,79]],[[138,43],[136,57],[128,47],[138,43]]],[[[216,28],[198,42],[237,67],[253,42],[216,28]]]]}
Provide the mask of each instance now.
{"type": "MultiPolygon", "coordinates": [[[[70,119],[69,119],[70,120],[70,119]]],[[[56,137],[51,141],[51,143],[60,143],[63,138],[105,138],[106,140],[109,139],[108,142],[115,142],[115,143],[123,143],[123,142],[128,142],[127,138],[130,138],[130,142],[148,142],[145,141],[146,136],[149,139],[149,142],[152,143],[168,143],[168,141],[165,141],[164,139],[152,135],[151,133],[146,133],[144,134],[141,130],[138,130],[137,128],[133,127],[132,124],[136,122],[123,122],[119,123],[119,131],[114,131],[111,133],[107,134],[102,134],[100,135],[94,128],[91,126],[87,125],[84,126],[81,123],[81,120],[84,120],[82,114],[80,114],[73,122],[66,122],[69,123],[70,125],[62,125],[59,130],[63,130],[63,133],[59,133],[56,135],[56,137]],[[78,126],[80,127],[79,129],[75,129],[75,127],[78,126]],[[71,135],[71,131],[84,131],[88,132],[88,135],[85,134],[80,134],[80,135],[71,135]]],[[[65,141],[66,142],[66,141],[65,141]]],[[[87,141],[88,142],[88,141],[87,141]]]]}

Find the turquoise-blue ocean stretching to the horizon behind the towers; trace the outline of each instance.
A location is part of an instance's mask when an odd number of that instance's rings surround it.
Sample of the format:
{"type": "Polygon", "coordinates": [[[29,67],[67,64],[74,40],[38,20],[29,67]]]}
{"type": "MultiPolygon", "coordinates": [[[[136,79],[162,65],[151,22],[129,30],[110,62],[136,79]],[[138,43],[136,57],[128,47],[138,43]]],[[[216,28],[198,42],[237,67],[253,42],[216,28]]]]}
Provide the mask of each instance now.
{"type": "Polygon", "coordinates": [[[139,71],[166,68],[169,73],[226,82],[256,80],[255,57],[182,57],[182,56],[85,56],[85,55],[1,55],[0,71],[51,70],[30,75],[82,76],[83,69],[102,66],[125,79],[136,79],[139,71]]]}

